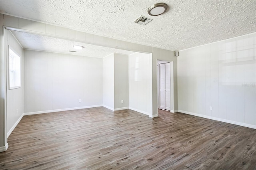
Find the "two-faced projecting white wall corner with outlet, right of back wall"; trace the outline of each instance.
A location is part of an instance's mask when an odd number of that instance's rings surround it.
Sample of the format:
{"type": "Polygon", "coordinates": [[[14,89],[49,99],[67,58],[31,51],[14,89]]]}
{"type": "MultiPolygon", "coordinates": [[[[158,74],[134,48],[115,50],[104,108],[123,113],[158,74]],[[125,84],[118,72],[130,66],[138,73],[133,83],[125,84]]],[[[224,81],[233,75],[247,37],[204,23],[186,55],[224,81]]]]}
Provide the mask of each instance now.
{"type": "Polygon", "coordinates": [[[107,55],[103,58],[103,106],[112,111],[128,109],[128,90],[128,55],[107,55]]]}

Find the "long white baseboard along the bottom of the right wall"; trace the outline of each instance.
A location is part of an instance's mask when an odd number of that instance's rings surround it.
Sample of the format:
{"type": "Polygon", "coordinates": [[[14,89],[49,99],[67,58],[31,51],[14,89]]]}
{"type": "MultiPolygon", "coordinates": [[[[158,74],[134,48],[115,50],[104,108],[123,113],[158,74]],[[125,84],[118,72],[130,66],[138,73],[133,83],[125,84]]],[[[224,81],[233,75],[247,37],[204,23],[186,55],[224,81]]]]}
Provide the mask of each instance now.
{"type": "Polygon", "coordinates": [[[214,121],[220,121],[220,122],[230,123],[230,124],[234,124],[234,125],[239,125],[239,126],[242,126],[242,127],[248,127],[248,128],[256,129],[255,125],[250,125],[250,124],[247,124],[247,123],[230,121],[230,120],[227,120],[227,119],[221,119],[221,118],[218,118],[218,117],[212,117],[212,116],[208,116],[208,115],[201,115],[201,114],[198,114],[198,113],[192,113],[192,112],[182,111],[182,110],[178,110],[178,112],[185,113],[185,114],[188,114],[188,115],[203,117],[203,118],[206,118],[206,119],[212,119],[214,121]]]}

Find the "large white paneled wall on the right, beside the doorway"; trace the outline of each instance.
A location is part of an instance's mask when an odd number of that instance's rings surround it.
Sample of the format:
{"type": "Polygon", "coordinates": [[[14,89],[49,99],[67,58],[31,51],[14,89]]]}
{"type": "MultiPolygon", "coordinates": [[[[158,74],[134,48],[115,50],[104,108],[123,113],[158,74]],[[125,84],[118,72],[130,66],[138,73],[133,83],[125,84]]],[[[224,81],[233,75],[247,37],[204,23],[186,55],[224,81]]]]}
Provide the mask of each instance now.
{"type": "Polygon", "coordinates": [[[178,109],[256,128],[256,33],[180,51],[178,109]]]}

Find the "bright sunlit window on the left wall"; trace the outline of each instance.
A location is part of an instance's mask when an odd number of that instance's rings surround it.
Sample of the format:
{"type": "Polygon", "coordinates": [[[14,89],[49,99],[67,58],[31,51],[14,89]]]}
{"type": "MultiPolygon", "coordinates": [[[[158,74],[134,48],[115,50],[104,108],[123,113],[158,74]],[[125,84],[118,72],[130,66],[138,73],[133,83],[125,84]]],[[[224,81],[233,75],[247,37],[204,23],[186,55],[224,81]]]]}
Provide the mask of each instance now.
{"type": "Polygon", "coordinates": [[[9,46],[9,89],[20,88],[20,56],[9,46]]]}

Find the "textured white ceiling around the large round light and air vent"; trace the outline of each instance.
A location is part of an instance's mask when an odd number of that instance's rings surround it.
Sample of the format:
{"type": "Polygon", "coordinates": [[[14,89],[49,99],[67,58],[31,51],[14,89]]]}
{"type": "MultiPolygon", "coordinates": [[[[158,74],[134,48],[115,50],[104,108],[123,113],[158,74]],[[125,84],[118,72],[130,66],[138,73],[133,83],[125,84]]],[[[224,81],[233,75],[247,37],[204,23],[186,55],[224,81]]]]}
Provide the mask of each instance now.
{"type": "Polygon", "coordinates": [[[256,32],[256,0],[1,0],[14,16],[102,36],[180,50],[256,32]],[[168,4],[161,16],[147,9],[168,4]],[[138,16],[152,18],[146,26],[138,16]]]}

